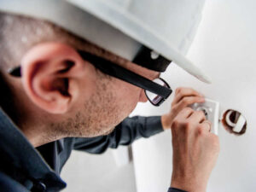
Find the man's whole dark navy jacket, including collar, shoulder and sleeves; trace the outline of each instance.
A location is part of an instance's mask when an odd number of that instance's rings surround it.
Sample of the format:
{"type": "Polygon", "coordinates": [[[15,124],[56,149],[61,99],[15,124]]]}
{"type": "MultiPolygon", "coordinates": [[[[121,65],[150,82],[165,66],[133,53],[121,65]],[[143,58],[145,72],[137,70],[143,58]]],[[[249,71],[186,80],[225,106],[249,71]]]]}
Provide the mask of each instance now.
{"type": "Polygon", "coordinates": [[[60,191],[66,187],[60,177],[61,168],[73,149],[101,154],[108,148],[129,145],[140,137],[150,137],[161,131],[159,116],[136,116],[125,119],[108,136],[67,137],[33,148],[0,108],[0,191],[60,191]]]}

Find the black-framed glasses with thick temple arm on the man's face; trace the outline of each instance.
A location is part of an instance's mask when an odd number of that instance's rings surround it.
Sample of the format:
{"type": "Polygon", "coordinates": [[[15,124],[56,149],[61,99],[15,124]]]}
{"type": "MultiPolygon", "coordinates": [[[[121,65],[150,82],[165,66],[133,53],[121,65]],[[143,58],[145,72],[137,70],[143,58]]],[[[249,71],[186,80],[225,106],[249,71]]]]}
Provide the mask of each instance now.
{"type": "MultiPolygon", "coordinates": [[[[78,50],[78,53],[84,59],[84,61],[89,61],[102,73],[108,74],[109,76],[117,79],[121,79],[145,90],[148,101],[154,106],[160,106],[160,104],[172,94],[172,89],[164,79],[159,78],[151,81],[102,57],[92,55],[82,50],[78,50]]],[[[21,77],[20,66],[10,69],[9,74],[15,77],[21,77]]]]}

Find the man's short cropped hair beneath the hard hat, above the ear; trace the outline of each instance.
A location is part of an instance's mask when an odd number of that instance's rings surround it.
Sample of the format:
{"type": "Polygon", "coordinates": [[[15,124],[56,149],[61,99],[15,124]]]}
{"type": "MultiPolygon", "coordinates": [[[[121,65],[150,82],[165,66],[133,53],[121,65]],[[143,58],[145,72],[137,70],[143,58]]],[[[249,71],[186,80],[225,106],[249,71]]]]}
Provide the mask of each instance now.
{"type": "Polygon", "coordinates": [[[9,67],[19,65],[27,49],[47,41],[69,44],[76,49],[84,49],[120,65],[126,64],[125,59],[47,20],[0,11],[0,71],[2,73],[9,67]]]}

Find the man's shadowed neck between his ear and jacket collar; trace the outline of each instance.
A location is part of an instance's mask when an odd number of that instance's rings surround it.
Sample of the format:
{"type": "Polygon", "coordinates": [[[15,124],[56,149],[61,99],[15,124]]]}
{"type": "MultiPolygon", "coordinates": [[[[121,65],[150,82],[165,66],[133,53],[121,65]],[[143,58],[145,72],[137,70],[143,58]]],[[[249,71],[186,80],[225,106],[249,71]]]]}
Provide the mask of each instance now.
{"type": "Polygon", "coordinates": [[[27,98],[21,89],[20,81],[10,83],[2,77],[0,85],[3,93],[0,99],[1,108],[20,128],[32,146],[36,148],[61,138],[56,130],[50,129],[52,123],[47,114],[38,112],[38,108],[27,98]],[[10,90],[10,87],[15,89],[10,90]]]}

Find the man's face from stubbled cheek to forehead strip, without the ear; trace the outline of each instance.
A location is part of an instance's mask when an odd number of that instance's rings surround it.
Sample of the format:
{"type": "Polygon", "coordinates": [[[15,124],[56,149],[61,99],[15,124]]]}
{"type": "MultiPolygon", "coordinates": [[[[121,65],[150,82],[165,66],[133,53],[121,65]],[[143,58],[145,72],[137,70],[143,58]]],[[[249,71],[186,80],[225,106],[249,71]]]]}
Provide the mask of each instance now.
{"type": "MultiPolygon", "coordinates": [[[[148,79],[156,79],[160,74],[133,63],[125,65],[125,68],[148,79]]],[[[92,66],[90,79],[90,87],[83,88],[84,94],[77,103],[71,135],[79,137],[107,135],[113,131],[115,125],[132,112],[137,102],[148,101],[143,89],[109,77],[92,66]],[[89,97],[88,90],[91,91],[89,97]]]]}

